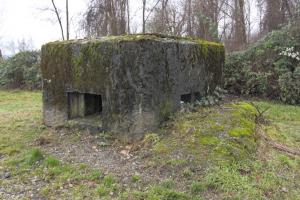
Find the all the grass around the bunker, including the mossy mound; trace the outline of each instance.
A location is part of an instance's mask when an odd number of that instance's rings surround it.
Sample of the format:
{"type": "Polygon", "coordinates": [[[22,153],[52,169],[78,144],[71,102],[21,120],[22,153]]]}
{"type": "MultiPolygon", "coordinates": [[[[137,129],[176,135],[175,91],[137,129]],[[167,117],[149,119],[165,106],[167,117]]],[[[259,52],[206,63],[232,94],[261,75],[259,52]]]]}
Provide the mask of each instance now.
{"type": "MultiPolygon", "coordinates": [[[[254,103],[262,110],[269,108],[265,133],[289,148],[299,148],[300,107],[254,103]]],[[[10,178],[0,179],[0,188],[8,193],[38,187],[33,191],[47,199],[296,200],[300,196],[300,158],[257,137],[256,111],[246,102],[172,116],[141,143],[149,154],[141,162],[155,171],[150,176],[159,181],[147,180],[149,174],[139,172],[125,185],[118,174],[59,160],[34,144],[55,141],[49,135],[57,134],[42,124],[41,108],[40,92],[0,91],[0,174],[11,173],[10,178]],[[35,179],[46,184],[35,184],[35,179]]],[[[0,199],[7,198],[0,189],[0,199]]]]}

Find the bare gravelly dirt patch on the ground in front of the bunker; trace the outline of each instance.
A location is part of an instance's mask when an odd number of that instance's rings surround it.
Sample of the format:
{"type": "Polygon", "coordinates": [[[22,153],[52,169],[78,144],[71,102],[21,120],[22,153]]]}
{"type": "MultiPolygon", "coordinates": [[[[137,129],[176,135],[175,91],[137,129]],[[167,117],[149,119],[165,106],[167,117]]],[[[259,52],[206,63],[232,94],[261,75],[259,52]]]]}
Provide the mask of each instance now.
{"type": "Polygon", "coordinates": [[[131,146],[108,144],[100,136],[81,133],[74,139],[74,133],[60,130],[54,133],[50,144],[42,146],[47,154],[57,157],[66,163],[86,164],[107,175],[109,173],[118,177],[120,183],[126,186],[131,182],[133,175],[139,175],[145,184],[158,182],[168,175],[161,174],[160,169],[149,167],[146,157],[149,152],[131,152],[131,146]]]}

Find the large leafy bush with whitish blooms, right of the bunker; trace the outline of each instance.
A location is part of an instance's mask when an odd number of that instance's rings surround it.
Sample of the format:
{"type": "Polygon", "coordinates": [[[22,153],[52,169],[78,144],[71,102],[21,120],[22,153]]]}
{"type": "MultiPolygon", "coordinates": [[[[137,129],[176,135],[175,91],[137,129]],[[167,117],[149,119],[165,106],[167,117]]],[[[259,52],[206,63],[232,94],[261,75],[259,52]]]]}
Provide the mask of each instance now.
{"type": "Polygon", "coordinates": [[[225,89],[300,104],[300,26],[273,31],[246,51],[226,58],[225,89]]]}

